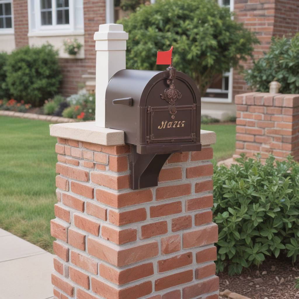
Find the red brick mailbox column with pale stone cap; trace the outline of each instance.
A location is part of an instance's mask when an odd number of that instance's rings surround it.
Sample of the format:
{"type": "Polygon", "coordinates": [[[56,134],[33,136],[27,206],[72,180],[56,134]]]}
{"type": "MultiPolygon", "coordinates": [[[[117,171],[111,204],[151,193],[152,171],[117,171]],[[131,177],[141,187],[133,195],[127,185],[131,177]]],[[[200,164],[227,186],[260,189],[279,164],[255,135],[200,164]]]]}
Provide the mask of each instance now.
{"type": "Polygon", "coordinates": [[[55,298],[218,298],[214,132],[201,132],[201,152],[172,154],[158,187],[141,190],[129,188],[123,131],[88,122],[52,125],[51,135],[55,298]]]}

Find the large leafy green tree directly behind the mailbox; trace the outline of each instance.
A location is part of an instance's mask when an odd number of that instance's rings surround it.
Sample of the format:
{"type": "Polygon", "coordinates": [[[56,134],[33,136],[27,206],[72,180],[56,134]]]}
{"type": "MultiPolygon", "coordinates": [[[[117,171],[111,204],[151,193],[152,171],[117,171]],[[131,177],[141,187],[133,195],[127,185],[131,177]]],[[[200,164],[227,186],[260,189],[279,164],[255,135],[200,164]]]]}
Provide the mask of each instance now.
{"type": "Polygon", "coordinates": [[[257,38],[211,0],[157,0],[118,21],[129,33],[127,68],[159,69],[157,51],[173,45],[173,64],[189,74],[201,94],[216,75],[236,67],[253,51],[257,38]]]}

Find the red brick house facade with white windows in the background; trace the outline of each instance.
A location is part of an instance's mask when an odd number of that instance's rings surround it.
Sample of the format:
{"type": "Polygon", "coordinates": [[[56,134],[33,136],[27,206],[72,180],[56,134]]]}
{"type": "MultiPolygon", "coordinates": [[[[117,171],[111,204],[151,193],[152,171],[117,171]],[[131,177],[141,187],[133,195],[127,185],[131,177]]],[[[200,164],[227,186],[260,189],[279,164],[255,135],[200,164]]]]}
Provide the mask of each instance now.
{"type": "MultiPolygon", "coordinates": [[[[298,0],[216,1],[229,7],[237,22],[256,32],[260,45],[255,46],[255,58],[269,49],[272,36],[294,35],[299,31],[298,0]]],[[[0,0],[0,51],[51,43],[59,51],[61,92],[73,94],[80,85],[94,83],[94,32],[99,24],[113,23],[119,16],[114,0],[0,0]],[[83,44],[76,57],[65,53],[63,46],[64,40],[74,38],[83,44]]],[[[248,60],[243,66],[248,68],[251,63],[248,60]]],[[[225,72],[202,97],[202,114],[220,119],[234,115],[234,96],[248,90],[238,70],[225,72]]]]}

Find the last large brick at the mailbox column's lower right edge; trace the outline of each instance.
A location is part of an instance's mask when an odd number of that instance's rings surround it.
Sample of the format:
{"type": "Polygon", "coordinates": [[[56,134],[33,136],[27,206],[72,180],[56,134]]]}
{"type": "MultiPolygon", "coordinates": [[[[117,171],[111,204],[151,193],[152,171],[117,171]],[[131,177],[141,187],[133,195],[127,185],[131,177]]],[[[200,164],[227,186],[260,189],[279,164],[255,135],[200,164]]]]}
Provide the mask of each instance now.
{"type": "Polygon", "coordinates": [[[186,286],[183,288],[183,298],[191,299],[202,294],[211,293],[219,290],[219,277],[215,276],[209,280],[205,280],[192,286],[186,286]]]}

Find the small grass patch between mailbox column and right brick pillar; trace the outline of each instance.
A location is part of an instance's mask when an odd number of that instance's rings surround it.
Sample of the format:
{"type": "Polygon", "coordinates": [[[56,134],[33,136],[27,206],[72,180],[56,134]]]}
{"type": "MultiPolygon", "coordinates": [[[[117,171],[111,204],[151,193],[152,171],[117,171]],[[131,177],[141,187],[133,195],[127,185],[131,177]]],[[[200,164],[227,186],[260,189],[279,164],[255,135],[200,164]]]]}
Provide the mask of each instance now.
{"type": "Polygon", "coordinates": [[[216,161],[225,160],[234,154],[236,144],[235,124],[202,124],[201,129],[216,132],[216,144],[213,145],[214,159],[216,161]]]}

